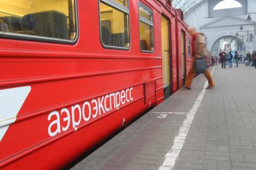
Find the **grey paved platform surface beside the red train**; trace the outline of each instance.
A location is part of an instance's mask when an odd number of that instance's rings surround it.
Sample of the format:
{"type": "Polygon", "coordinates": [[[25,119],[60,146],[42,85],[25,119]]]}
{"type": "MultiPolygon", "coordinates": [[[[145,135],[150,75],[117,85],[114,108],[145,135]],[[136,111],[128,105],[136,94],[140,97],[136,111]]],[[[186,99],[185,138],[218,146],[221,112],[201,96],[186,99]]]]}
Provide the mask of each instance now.
{"type": "Polygon", "coordinates": [[[256,69],[216,66],[212,75],[216,86],[205,90],[198,109],[204,75],[72,169],[256,169],[256,69]]]}

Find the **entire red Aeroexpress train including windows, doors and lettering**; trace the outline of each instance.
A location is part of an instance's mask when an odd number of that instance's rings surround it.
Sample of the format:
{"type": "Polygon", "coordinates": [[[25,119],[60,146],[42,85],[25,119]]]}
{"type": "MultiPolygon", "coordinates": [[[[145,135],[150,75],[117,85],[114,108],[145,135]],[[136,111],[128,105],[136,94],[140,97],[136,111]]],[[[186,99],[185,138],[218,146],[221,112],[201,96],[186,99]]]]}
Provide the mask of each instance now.
{"type": "Polygon", "coordinates": [[[192,65],[166,0],[0,2],[0,169],[56,169],[160,104],[192,65]]]}

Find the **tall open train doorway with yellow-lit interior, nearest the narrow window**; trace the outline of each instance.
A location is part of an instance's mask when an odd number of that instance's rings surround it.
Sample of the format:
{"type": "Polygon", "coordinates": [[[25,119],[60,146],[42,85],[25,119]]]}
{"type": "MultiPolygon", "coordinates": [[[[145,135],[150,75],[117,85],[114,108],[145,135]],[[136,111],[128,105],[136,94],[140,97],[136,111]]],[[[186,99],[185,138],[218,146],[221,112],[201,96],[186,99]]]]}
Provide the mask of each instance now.
{"type": "Polygon", "coordinates": [[[162,64],[163,64],[163,96],[164,99],[171,95],[171,69],[170,69],[170,45],[169,45],[169,20],[161,16],[161,35],[162,35],[162,64]]]}

